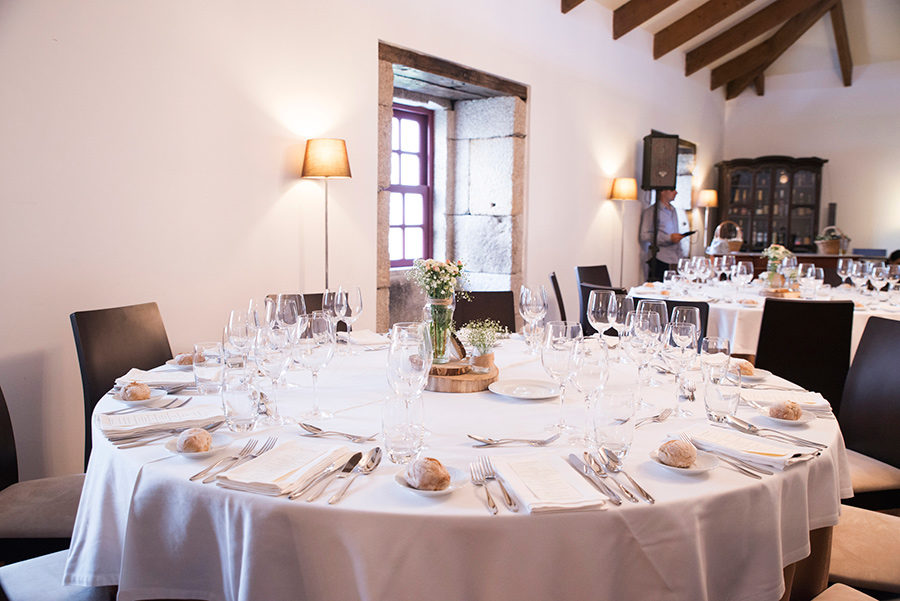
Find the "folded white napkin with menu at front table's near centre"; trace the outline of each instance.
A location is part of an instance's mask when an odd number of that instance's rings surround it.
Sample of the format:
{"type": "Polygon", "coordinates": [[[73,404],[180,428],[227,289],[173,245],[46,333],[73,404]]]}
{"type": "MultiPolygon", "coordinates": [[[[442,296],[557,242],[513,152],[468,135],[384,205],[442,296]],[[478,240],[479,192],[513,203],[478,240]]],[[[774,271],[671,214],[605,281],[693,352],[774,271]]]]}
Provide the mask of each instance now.
{"type": "Polygon", "coordinates": [[[497,473],[531,513],[600,508],[606,497],[562,457],[495,458],[497,473]]]}

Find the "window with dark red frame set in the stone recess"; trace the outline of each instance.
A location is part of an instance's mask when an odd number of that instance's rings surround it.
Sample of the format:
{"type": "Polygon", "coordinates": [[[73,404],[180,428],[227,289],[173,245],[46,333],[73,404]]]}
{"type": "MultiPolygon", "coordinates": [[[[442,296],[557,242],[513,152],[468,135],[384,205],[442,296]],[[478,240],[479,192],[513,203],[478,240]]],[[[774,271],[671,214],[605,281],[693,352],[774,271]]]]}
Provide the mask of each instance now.
{"type": "Polygon", "coordinates": [[[433,124],[433,111],[394,105],[388,187],[391,267],[408,267],[415,259],[428,259],[433,254],[433,124]]]}

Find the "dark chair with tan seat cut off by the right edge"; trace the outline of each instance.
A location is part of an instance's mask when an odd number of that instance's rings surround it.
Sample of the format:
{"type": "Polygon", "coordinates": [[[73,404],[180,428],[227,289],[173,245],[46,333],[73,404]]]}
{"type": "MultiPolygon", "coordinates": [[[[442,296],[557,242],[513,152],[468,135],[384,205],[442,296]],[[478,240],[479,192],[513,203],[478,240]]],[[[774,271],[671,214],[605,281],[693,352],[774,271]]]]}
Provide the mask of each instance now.
{"type": "Polygon", "coordinates": [[[867,509],[900,508],[900,321],[870,317],[841,399],[840,423],[850,459],[852,499],[867,509]]]}

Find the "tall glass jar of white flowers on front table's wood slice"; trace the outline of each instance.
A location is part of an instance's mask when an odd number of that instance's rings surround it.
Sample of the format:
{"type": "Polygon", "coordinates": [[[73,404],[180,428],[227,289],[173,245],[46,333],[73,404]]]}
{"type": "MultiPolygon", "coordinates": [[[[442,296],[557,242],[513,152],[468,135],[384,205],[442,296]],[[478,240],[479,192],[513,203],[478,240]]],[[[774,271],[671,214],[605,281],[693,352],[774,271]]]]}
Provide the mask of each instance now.
{"type": "Polygon", "coordinates": [[[454,294],[459,292],[468,298],[463,289],[467,283],[463,262],[416,259],[408,277],[428,296],[425,315],[434,348],[434,363],[447,363],[450,361],[447,341],[453,331],[454,294]]]}

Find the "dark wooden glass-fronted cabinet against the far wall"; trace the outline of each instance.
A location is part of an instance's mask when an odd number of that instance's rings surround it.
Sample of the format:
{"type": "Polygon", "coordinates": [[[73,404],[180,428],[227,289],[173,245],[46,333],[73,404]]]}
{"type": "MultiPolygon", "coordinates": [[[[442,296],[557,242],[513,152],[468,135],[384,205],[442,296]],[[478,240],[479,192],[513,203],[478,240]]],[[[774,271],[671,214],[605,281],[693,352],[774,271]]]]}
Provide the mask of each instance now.
{"type": "Polygon", "coordinates": [[[743,251],[782,244],[815,252],[822,165],[827,159],[765,156],[717,163],[720,220],[744,233],[743,251]]]}

